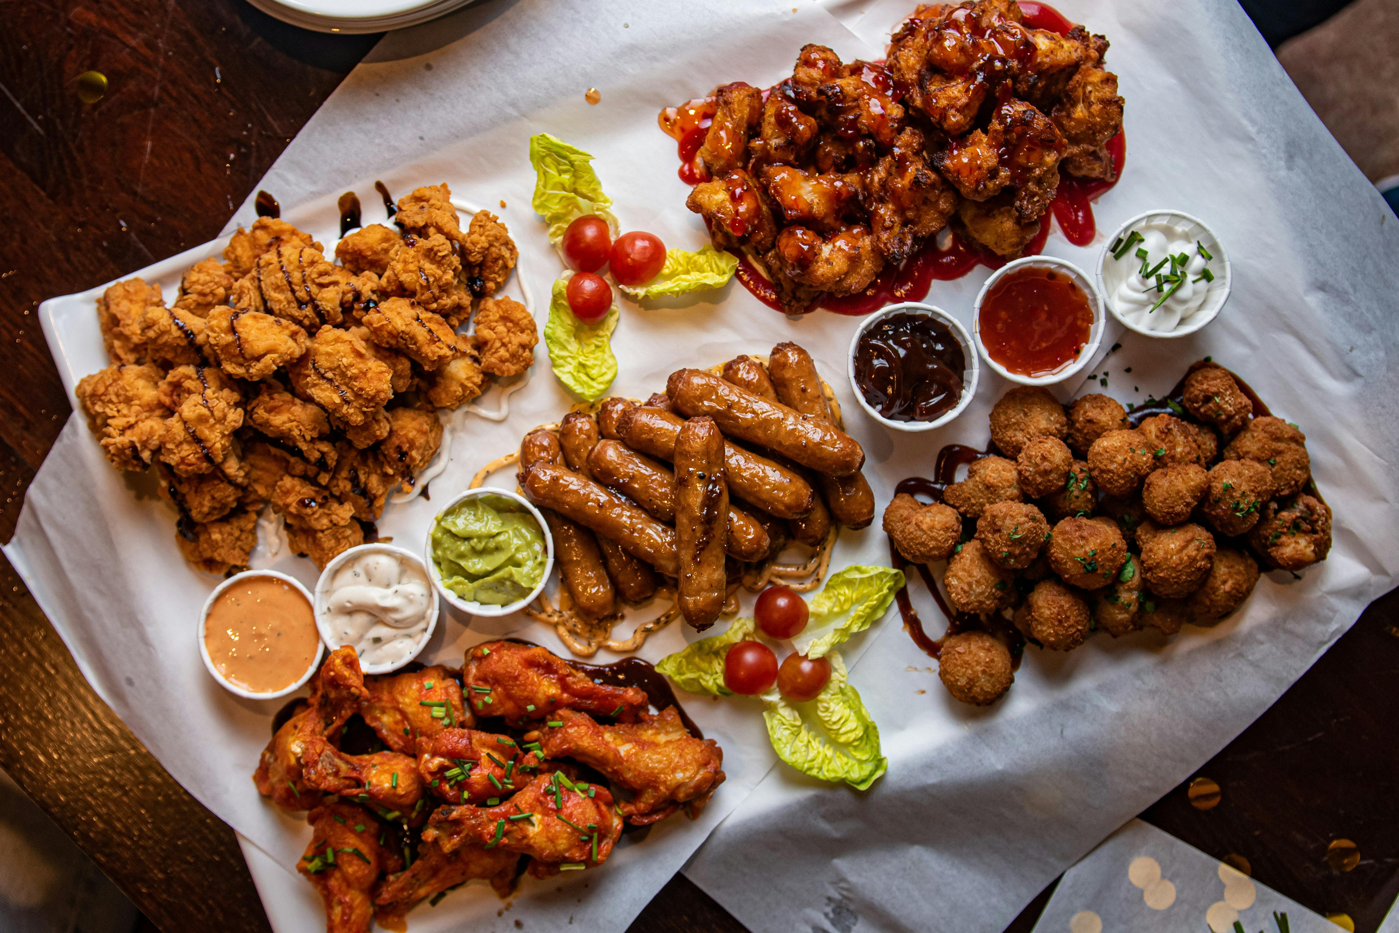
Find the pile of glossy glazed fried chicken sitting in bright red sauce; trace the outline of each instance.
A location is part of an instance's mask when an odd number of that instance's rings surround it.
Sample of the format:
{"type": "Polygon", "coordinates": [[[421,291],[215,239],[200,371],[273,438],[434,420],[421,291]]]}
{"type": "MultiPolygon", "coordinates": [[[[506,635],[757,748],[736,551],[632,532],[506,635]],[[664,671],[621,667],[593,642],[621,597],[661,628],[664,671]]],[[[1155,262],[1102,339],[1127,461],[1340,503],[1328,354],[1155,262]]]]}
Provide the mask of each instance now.
{"type": "Polygon", "coordinates": [[[807,45],[769,92],[716,91],[687,207],[761,263],[788,313],[863,291],[949,222],[1014,257],[1060,169],[1111,179],[1122,129],[1108,41],[1021,22],[1014,0],[919,6],[884,64],[807,45]]]}

